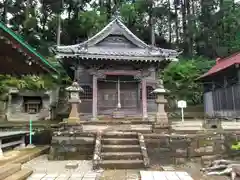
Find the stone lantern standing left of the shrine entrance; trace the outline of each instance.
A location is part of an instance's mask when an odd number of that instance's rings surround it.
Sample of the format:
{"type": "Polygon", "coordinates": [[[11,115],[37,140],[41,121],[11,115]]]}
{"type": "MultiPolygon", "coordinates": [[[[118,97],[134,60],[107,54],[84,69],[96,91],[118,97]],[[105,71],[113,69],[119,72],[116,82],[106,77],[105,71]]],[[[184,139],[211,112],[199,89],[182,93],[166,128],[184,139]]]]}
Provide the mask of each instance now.
{"type": "Polygon", "coordinates": [[[79,93],[83,92],[83,89],[79,86],[77,82],[73,82],[71,86],[66,88],[69,92],[68,102],[71,104],[71,111],[67,119],[68,124],[78,124],[80,121],[80,116],[78,112],[79,104],[81,103],[79,93]]]}

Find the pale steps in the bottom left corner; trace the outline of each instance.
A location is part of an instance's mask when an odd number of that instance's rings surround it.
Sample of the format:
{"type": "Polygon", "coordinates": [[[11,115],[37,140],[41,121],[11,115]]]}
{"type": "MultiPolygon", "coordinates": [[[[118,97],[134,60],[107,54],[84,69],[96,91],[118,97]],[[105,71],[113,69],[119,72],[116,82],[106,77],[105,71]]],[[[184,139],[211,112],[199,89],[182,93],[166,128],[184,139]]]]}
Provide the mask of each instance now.
{"type": "Polygon", "coordinates": [[[1,180],[25,180],[31,174],[32,170],[21,168],[21,164],[7,164],[0,167],[1,180]]]}

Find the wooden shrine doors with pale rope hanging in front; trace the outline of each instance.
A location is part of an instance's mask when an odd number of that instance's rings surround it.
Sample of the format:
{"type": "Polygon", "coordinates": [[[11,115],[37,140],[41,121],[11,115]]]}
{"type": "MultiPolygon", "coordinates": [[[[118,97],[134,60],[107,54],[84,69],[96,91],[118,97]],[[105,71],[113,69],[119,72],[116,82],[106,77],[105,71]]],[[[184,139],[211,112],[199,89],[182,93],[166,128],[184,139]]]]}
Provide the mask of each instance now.
{"type": "Polygon", "coordinates": [[[121,109],[127,114],[139,111],[139,82],[133,76],[107,76],[98,81],[98,112],[111,114],[121,109]]]}

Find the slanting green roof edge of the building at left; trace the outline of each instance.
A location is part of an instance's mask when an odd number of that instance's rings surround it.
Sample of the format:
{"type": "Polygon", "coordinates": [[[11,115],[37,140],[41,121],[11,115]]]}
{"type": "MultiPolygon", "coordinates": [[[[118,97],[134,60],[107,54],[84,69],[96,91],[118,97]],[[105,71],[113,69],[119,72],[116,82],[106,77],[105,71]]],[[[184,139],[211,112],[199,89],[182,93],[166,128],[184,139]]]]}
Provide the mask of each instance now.
{"type": "Polygon", "coordinates": [[[19,42],[23,47],[28,49],[34,56],[39,58],[43,64],[46,65],[46,67],[55,73],[59,74],[57,69],[49,62],[47,61],[42,55],[40,55],[32,46],[30,46],[28,43],[26,43],[19,35],[17,35],[13,30],[8,28],[6,25],[4,25],[3,22],[0,21],[0,29],[4,30],[6,33],[11,35],[17,42],[19,42]]]}

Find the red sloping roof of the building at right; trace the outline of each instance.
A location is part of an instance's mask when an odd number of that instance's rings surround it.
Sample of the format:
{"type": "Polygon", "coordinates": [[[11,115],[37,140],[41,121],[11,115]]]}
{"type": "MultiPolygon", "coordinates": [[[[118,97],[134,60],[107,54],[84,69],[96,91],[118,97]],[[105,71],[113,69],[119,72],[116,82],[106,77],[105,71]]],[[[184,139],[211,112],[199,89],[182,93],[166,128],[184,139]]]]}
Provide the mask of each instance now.
{"type": "Polygon", "coordinates": [[[232,65],[240,64],[240,52],[235,53],[229,57],[219,59],[207,73],[199,77],[199,79],[205,78],[207,76],[214,75],[224,69],[231,67],[232,65]]]}

